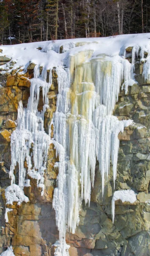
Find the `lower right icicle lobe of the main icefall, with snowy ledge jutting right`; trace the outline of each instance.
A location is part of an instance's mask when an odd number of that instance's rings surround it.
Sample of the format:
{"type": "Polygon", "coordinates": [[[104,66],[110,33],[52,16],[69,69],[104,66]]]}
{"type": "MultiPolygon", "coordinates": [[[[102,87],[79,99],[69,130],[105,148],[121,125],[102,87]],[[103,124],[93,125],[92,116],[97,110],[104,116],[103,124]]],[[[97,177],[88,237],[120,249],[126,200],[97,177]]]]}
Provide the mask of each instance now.
{"type": "Polygon", "coordinates": [[[102,176],[102,195],[104,194],[105,178],[110,171],[110,159],[113,166],[113,182],[115,186],[116,169],[119,150],[119,132],[131,125],[132,120],[119,121],[116,116],[105,116],[99,125],[97,134],[97,160],[99,161],[99,170],[102,176]]]}

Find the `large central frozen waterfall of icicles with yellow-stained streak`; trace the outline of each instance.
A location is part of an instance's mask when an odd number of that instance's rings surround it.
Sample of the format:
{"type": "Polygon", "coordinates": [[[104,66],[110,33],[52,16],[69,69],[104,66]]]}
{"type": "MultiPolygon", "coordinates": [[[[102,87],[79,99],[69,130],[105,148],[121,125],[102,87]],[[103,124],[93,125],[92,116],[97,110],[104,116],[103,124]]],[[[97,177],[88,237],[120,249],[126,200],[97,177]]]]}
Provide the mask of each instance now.
{"type": "Polygon", "coordinates": [[[67,230],[75,232],[82,200],[90,204],[96,157],[102,175],[103,195],[110,159],[114,182],[116,179],[118,134],[132,123],[131,120],[119,121],[116,116],[111,116],[122,81],[127,92],[128,83],[132,80],[131,64],[123,58],[108,60],[105,55],[93,60],[92,53],[90,50],[70,56],[68,79],[66,71],[62,67],[58,69],[59,94],[53,124],[59,174],[53,207],[59,230],[56,255],[60,256],[67,255],[65,233],[67,230]]]}

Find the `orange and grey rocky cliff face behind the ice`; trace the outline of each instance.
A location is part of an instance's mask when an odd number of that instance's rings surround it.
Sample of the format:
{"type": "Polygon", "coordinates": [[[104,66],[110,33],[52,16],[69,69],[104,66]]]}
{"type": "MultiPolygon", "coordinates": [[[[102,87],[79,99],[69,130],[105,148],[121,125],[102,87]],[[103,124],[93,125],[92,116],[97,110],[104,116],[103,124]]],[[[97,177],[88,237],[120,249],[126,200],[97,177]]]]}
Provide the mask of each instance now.
{"type": "MultiPolygon", "coordinates": [[[[61,48],[62,50],[62,48],[61,48]]],[[[127,49],[130,53],[132,47],[127,49]]],[[[11,56],[9,56],[11,57],[11,56]]],[[[96,164],[94,187],[90,206],[82,203],[79,212],[79,225],[75,234],[67,233],[70,256],[148,256],[150,255],[150,81],[144,80],[144,63],[137,57],[135,65],[136,81],[128,87],[128,92],[120,90],[113,115],[119,120],[133,119],[134,125],[119,133],[120,147],[117,163],[115,190],[132,189],[136,202],[130,204],[118,200],[115,206],[115,220],[112,222],[111,201],[113,197],[113,171],[110,166],[108,180],[102,197],[102,178],[99,163],[96,164]]],[[[128,58],[132,61],[131,57],[128,58]]],[[[1,61],[6,61],[5,58],[1,61]]],[[[9,60],[8,60],[9,61],[9,60]]],[[[13,66],[13,61],[11,62],[13,66]]],[[[54,243],[59,239],[52,208],[53,192],[56,187],[58,169],[54,167],[59,160],[54,144],[48,150],[47,168],[44,173],[45,190],[37,180],[28,175],[30,185],[24,187],[29,202],[6,205],[5,189],[11,184],[9,170],[11,165],[10,136],[16,128],[17,108],[20,100],[26,107],[30,96],[30,79],[34,76],[35,64],[29,64],[25,73],[21,67],[10,73],[0,75],[0,253],[13,247],[15,256],[53,256],[54,243]],[[5,211],[9,209],[8,222],[5,211]]],[[[40,67],[42,72],[42,67],[40,67]]],[[[49,79],[49,70],[47,70],[49,79]]],[[[58,93],[57,71],[52,70],[52,85],[48,92],[50,108],[44,114],[44,128],[48,133],[53,113],[56,111],[58,93]]],[[[42,90],[38,110],[43,107],[42,90]]],[[[51,127],[53,137],[53,126],[51,127]]],[[[24,162],[24,168],[26,162],[24,162]]],[[[18,166],[14,175],[18,182],[18,166]]]]}

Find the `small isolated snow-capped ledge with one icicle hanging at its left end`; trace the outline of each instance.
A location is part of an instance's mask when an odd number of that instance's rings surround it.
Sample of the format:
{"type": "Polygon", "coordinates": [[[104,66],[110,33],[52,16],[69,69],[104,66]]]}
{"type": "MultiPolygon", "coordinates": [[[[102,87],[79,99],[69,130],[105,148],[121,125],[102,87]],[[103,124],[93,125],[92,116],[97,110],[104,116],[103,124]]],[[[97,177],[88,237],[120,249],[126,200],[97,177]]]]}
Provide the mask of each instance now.
{"type": "Polygon", "coordinates": [[[130,202],[130,204],[133,204],[136,201],[136,193],[132,189],[118,190],[114,192],[111,206],[113,222],[115,218],[115,201],[117,200],[121,200],[122,203],[130,202]]]}

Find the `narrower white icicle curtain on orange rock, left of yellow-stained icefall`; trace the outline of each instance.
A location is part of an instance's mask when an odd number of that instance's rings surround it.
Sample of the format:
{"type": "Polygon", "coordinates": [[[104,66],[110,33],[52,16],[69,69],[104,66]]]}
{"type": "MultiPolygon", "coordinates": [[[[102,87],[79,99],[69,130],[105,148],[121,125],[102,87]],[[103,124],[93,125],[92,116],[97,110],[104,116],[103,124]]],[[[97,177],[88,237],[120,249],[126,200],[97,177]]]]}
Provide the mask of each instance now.
{"type": "MultiPolygon", "coordinates": [[[[50,70],[51,72],[51,70],[50,70]]],[[[28,177],[37,179],[37,186],[44,193],[43,175],[46,169],[47,154],[51,137],[44,131],[44,112],[48,104],[48,90],[51,84],[46,82],[47,70],[42,69],[40,76],[39,66],[34,67],[34,77],[31,79],[30,97],[27,108],[19,102],[17,128],[11,134],[11,184],[15,183],[14,169],[19,166],[19,187],[30,186],[28,177]],[[40,90],[42,88],[43,110],[38,111],[40,90]],[[27,167],[25,168],[24,162],[27,167]]],[[[51,80],[51,79],[50,79],[51,80]]]]}

